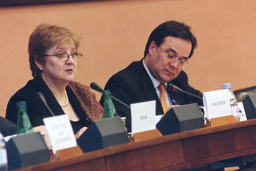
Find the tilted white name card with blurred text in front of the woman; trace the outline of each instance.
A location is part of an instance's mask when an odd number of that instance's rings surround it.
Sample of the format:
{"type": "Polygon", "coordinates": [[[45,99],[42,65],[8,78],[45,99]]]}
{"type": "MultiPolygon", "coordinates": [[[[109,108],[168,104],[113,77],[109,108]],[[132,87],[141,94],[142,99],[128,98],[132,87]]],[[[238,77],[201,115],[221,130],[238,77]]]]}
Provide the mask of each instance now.
{"type": "Polygon", "coordinates": [[[52,152],[77,146],[74,132],[67,115],[43,119],[52,144],[52,152]]]}

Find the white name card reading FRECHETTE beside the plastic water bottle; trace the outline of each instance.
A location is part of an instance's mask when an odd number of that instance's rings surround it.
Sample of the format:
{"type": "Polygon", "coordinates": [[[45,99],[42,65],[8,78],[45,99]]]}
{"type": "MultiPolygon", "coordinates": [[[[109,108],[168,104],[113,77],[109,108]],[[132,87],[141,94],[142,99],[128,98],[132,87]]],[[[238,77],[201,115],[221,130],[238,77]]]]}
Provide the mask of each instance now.
{"type": "Polygon", "coordinates": [[[231,115],[230,97],[228,89],[208,91],[203,93],[205,118],[231,115]]]}

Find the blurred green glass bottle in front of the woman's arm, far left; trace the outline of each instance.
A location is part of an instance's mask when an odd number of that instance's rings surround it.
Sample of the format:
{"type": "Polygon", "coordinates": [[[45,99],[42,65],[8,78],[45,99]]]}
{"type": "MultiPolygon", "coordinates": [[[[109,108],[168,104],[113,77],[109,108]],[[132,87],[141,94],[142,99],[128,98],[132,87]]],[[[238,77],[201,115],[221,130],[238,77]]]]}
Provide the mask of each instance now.
{"type": "Polygon", "coordinates": [[[18,110],[17,119],[17,135],[33,133],[32,125],[29,120],[27,113],[27,104],[25,101],[20,101],[16,103],[18,110]]]}

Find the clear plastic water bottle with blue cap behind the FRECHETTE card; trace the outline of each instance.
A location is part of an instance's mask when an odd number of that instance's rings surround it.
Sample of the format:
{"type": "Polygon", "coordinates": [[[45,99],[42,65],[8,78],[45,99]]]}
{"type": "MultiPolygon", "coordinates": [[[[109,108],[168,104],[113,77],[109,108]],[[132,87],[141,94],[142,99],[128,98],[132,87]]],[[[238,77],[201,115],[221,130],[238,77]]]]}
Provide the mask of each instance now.
{"type": "Polygon", "coordinates": [[[231,105],[231,114],[237,119],[237,121],[240,121],[240,115],[239,115],[239,108],[237,103],[237,97],[231,91],[231,84],[226,83],[222,85],[223,89],[228,89],[229,96],[230,96],[230,105],[231,105]]]}

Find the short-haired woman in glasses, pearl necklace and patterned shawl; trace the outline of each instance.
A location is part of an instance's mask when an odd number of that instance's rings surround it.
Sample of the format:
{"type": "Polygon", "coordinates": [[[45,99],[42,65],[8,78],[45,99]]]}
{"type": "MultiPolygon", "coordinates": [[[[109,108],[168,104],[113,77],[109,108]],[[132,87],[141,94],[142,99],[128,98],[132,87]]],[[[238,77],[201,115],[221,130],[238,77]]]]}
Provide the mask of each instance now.
{"type": "Polygon", "coordinates": [[[25,101],[34,130],[45,130],[43,118],[66,114],[76,139],[91,122],[103,118],[103,108],[89,87],[72,81],[78,60],[81,36],[55,23],[36,27],[29,38],[29,62],[33,80],[9,100],[6,118],[17,124],[16,102],[25,101]],[[52,113],[38,97],[41,92],[52,113]]]}

